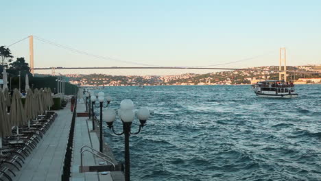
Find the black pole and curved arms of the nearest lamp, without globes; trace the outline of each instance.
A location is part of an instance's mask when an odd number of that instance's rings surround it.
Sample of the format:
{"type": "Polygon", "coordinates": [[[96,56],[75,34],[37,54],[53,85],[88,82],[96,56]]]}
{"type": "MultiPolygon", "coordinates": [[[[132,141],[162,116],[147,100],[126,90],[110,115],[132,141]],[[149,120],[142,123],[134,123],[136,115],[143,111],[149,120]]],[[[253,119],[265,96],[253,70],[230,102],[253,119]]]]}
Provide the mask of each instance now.
{"type": "Polygon", "coordinates": [[[121,133],[115,132],[112,122],[107,122],[108,127],[110,129],[112,129],[112,132],[114,132],[114,134],[116,134],[116,135],[124,134],[124,138],[125,138],[125,181],[130,181],[130,149],[129,149],[130,134],[139,134],[139,132],[141,132],[141,128],[143,128],[143,126],[146,123],[146,120],[139,120],[139,121],[141,122],[141,125],[139,125],[139,130],[134,133],[130,132],[132,122],[122,121],[123,122],[123,132],[121,132],[121,133]]]}

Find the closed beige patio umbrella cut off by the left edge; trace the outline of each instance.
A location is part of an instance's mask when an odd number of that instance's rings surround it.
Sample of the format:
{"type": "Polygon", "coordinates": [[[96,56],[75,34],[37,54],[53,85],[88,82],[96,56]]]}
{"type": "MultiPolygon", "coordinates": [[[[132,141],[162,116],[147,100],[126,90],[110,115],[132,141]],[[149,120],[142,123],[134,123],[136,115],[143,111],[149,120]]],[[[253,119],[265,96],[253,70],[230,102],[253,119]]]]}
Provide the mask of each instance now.
{"type": "Polygon", "coordinates": [[[11,125],[6,107],[7,106],[3,97],[2,88],[0,88],[0,148],[2,147],[2,138],[5,136],[11,136],[11,125]]]}

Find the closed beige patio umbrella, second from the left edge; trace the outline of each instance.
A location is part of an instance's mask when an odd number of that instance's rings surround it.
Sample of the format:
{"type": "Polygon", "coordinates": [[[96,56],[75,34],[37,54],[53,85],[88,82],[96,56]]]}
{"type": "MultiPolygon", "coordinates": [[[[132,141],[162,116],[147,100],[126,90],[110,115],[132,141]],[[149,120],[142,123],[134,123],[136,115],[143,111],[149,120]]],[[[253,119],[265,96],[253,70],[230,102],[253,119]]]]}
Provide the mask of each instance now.
{"type": "Polygon", "coordinates": [[[25,109],[21,102],[21,93],[16,88],[14,88],[14,93],[12,95],[10,123],[16,126],[17,134],[19,134],[19,126],[27,124],[27,116],[25,115],[25,109]]]}

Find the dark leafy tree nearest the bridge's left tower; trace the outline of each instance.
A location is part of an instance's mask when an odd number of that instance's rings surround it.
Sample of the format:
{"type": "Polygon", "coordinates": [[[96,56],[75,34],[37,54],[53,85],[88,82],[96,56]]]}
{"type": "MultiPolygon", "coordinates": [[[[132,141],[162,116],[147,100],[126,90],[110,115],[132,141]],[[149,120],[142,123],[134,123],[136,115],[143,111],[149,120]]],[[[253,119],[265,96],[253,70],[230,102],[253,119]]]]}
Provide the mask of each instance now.
{"type": "Polygon", "coordinates": [[[19,71],[21,73],[21,76],[23,77],[25,77],[25,74],[28,74],[29,77],[32,76],[32,74],[30,73],[29,64],[25,62],[25,58],[23,57],[16,58],[16,61],[12,62],[10,64],[10,68],[8,69],[8,72],[14,76],[18,76],[19,71]]]}

